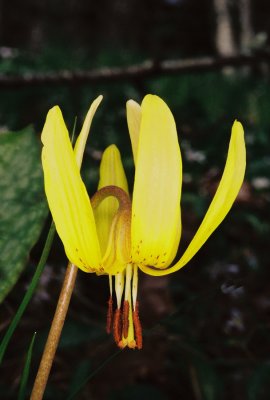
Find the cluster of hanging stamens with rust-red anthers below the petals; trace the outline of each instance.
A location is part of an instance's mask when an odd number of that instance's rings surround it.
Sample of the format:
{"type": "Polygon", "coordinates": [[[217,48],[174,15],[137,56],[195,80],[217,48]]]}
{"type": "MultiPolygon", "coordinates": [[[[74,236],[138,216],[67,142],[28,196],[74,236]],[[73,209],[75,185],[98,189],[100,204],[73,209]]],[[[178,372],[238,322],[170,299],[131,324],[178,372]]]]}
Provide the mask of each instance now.
{"type": "Polygon", "coordinates": [[[127,264],[125,271],[115,275],[114,291],[116,309],[113,309],[113,277],[109,275],[110,298],[107,312],[107,333],[113,333],[115,343],[121,349],[142,348],[142,327],[139,318],[138,267],[127,264]]]}

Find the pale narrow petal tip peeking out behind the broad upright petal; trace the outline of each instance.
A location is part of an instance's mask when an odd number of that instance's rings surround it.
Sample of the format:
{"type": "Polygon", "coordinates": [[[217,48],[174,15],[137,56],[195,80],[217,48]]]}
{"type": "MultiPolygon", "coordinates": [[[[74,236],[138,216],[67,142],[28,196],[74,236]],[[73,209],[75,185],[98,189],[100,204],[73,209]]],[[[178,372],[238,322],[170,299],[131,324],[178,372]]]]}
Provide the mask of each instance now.
{"type": "Polygon", "coordinates": [[[139,132],[141,126],[142,112],[141,107],[136,101],[127,101],[127,123],[129,136],[131,140],[132,152],[134,164],[136,165],[137,151],[138,151],[138,141],[139,132]]]}

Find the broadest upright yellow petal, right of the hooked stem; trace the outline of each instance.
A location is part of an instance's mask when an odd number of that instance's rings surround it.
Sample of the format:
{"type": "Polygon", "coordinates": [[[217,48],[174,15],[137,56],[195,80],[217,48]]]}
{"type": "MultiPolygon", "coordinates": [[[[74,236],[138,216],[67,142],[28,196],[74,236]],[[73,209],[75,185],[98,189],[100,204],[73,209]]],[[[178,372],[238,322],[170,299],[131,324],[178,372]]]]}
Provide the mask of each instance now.
{"type": "Polygon", "coordinates": [[[132,262],[165,268],[181,233],[182,161],[174,118],[157,96],[142,102],[132,201],[132,262]]]}

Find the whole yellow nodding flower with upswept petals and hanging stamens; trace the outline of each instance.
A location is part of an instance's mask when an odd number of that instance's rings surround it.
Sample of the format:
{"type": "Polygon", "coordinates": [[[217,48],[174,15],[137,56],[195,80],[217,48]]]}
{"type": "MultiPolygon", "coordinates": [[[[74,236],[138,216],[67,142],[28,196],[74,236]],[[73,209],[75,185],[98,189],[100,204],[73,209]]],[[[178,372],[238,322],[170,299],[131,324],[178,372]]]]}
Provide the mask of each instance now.
{"type": "Polygon", "coordinates": [[[235,121],[215,196],[191,243],[171,265],[182,230],[182,161],[173,115],[157,96],[147,95],[141,106],[127,102],[135,163],[132,200],[115,145],[103,153],[98,190],[90,200],[80,167],[101,99],[92,103],[74,149],[59,107],[49,111],[42,132],[45,191],[69,261],[85,272],[109,276],[107,332],[113,331],[119,347],[140,349],[138,269],[155,276],[178,271],[222,222],[244,179],[244,132],[241,123],[235,121]]]}

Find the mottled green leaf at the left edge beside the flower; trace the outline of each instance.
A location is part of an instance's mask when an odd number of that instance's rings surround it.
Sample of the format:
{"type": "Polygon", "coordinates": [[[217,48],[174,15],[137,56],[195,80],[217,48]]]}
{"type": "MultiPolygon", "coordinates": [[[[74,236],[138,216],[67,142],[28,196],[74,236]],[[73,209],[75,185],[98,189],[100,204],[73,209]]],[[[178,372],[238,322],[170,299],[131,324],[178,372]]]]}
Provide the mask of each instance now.
{"type": "Polygon", "coordinates": [[[22,272],[47,212],[33,129],[0,133],[0,302],[22,272]]]}

